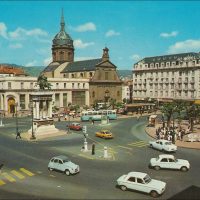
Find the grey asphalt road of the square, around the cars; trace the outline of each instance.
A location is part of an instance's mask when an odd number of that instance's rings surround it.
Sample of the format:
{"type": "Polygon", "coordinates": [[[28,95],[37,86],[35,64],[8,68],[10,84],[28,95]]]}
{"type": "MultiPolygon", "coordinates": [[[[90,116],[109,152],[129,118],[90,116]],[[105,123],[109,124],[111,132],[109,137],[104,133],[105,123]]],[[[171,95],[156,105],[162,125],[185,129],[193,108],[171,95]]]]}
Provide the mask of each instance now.
{"type": "MultiPolygon", "coordinates": [[[[148,168],[150,158],[161,152],[150,149],[151,140],[144,132],[146,118],[111,121],[102,126],[98,122],[87,125],[88,144],[95,143],[96,155],[93,158],[82,156],[80,149],[84,137],[81,132],[49,138],[41,141],[15,139],[15,119],[4,120],[0,128],[0,163],[4,164],[0,174],[0,199],[152,199],[138,192],[123,192],[116,188],[116,180],[130,171],[148,173],[152,178],[167,183],[166,192],[158,199],[167,199],[191,185],[200,186],[199,151],[178,148],[177,158],[188,159],[191,170],[180,171],[148,168]],[[114,139],[104,140],[95,137],[100,129],[109,129],[114,139]],[[104,160],[103,147],[112,153],[111,160],[104,160]],[[80,173],[66,176],[59,172],[49,172],[49,159],[64,154],[80,165],[80,173]]],[[[18,121],[19,129],[25,131],[31,125],[30,118],[18,121]]],[[[56,127],[66,130],[66,122],[57,122],[56,127]]]]}

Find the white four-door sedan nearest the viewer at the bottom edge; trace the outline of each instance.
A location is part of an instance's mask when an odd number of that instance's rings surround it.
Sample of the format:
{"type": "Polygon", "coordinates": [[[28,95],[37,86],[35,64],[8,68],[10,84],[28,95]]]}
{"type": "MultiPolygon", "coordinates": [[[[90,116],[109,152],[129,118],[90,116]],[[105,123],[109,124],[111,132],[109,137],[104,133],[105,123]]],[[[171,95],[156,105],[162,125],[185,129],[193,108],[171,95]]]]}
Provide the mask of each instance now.
{"type": "Polygon", "coordinates": [[[142,172],[129,172],[117,179],[117,185],[121,190],[137,190],[150,194],[152,197],[161,195],[166,189],[166,183],[151,179],[148,174],[142,172]]]}

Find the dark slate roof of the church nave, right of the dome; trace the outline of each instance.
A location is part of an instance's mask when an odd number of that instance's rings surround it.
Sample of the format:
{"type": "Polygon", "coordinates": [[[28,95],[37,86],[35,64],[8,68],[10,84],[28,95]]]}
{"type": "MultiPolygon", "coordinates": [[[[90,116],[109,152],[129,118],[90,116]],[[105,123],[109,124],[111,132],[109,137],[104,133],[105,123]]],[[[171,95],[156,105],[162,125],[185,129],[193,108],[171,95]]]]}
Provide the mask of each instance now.
{"type": "Polygon", "coordinates": [[[94,71],[97,64],[102,62],[102,58],[75,61],[69,63],[61,73],[80,72],[80,71],[94,71]]]}

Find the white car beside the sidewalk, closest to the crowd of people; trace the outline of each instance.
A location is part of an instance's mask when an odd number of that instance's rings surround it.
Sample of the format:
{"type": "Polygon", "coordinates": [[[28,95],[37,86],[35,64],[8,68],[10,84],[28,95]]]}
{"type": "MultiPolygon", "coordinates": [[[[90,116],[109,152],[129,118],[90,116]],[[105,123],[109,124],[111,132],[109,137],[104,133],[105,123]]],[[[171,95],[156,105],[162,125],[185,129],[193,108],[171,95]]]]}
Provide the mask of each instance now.
{"type": "Polygon", "coordinates": [[[149,146],[151,148],[155,148],[161,151],[167,151],[167,152],[175,152],[177,151],[177,146],[172,144],[171,141],[168,140],[156,140],[156,141],[150,141],[149,146]]]}

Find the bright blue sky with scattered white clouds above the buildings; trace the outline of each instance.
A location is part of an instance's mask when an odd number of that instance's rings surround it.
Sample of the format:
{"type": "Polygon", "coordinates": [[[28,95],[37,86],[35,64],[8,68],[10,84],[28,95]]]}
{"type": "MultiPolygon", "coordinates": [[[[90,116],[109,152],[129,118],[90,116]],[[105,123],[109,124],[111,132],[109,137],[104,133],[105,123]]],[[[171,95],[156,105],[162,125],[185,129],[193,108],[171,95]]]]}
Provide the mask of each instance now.
{"type": "Polygon", "coordinates": [[[198,1],[1,1],[0,63],[50,63],[62,8],[75,60],[107,46],[111,62],[131,70],[144,57],[200,51],[198,1]]]}

